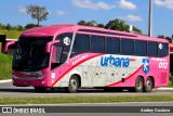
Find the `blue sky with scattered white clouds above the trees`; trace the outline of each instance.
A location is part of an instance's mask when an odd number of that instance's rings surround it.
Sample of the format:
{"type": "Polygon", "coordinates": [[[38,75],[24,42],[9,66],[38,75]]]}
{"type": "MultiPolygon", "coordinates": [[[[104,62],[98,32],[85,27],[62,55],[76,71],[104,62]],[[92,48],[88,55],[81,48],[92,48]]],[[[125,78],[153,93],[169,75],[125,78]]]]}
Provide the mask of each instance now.
{"type": "MultiPolygon", "coordinates": [[[[149,0],[0,0],[0,23],[12,26],[37,24],[26,12],[28,5],[45,7],[46,21],[41,25],[77,24],[96,21],[106,25],[121,18],[148,34],[149,0]]],[[[173,0],[152,0],[152,36],[173,35],[173,0]]]]}

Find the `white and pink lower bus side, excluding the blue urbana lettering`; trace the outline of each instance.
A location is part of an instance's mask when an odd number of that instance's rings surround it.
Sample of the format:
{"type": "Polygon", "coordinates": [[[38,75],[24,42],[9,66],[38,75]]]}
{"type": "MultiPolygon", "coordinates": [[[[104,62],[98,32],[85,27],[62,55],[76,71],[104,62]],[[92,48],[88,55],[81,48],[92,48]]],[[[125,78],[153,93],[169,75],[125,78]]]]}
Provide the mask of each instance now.
{"type": "MultiPolygon", "coordinates": [[[[86,54],[83,54],[83,56],[85,55],[86,54]]],[[[116,55],[117,57],[130,57],[130,66],[104,67],[101,66],[101,59],[103,56],[109,57],[109,55],[101,55],[88,61],[83,60],[81,61],[81,64],[78,64],[77,66],[69,66],[69,70],[67,69],[69,73],[63,73],[59,77],[62,79],[58,78],[58,81],[56,80],[57,82],[53,83],[53,87],[59,87],[61,81],[66,81],[66,83],[68,83],[68,80],[71,75],[79,75],[81,77],[81,87],[134,87],[134,81],[138,76],[144,77],[145,81],[147,77],[154,77],[155,87],[167,86],[169,82],[169,73],[167,69],[168,67],[160,69],[157,68],[159,66],[160,61],[164,61],[165,63],[168,63],[167,59],[148,59],[143,56],[135,57],[127,55],[116,55]],[[151,68],[144,67],[144,65],[146,65],[145,62],[143,62],[144,59],[150,61],[149,67],[151,68]],[[160,75],[158,75],[157,72],[160,72],[160,75]],[[124,82],[122,81],[122,78],[124,79],[124,82]]]]}

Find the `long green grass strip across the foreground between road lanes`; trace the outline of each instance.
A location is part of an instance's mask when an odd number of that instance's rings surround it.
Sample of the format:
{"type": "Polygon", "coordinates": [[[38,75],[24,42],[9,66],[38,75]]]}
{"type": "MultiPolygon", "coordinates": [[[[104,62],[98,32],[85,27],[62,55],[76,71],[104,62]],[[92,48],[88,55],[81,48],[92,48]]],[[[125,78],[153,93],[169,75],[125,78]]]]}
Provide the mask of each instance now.
{"type": "Polygon", "coordinates": [[[62,103],[114,103],[114,102],[167,102],[167,101],[173,101],[173,95],[0,98],[0,104],[62,104],[62,103]]]}

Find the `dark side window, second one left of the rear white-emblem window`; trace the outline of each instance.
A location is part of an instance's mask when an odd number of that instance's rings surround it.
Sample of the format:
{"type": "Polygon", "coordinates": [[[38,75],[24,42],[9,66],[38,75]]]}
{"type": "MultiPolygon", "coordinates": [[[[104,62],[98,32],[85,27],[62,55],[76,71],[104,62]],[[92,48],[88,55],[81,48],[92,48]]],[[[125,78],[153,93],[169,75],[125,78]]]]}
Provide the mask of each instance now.
{"type": "Polygon", "coordinates": [[[147,55],[147,41],[135,40],[135,54],[147,55]]]}

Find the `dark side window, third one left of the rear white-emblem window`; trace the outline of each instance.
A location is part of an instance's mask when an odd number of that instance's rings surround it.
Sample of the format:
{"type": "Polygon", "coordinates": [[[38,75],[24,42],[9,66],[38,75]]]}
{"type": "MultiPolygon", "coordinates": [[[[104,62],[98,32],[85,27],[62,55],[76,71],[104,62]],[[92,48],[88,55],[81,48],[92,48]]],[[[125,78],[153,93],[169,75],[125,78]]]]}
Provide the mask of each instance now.
{"type": "Polygon", "coordinates": [[[121,53],[133,54],[134,53],[134,40],[121,39],[121,53]]]}

